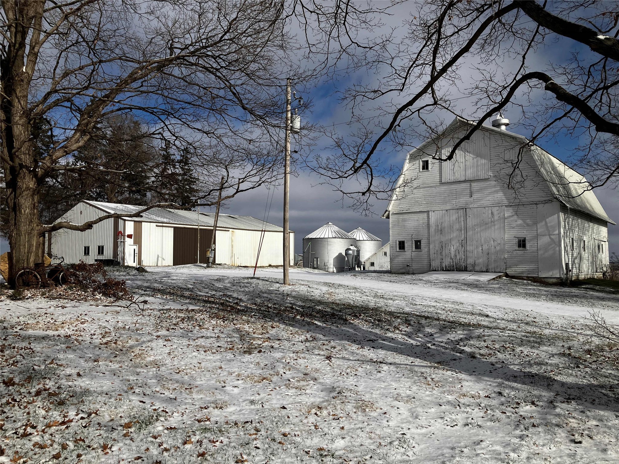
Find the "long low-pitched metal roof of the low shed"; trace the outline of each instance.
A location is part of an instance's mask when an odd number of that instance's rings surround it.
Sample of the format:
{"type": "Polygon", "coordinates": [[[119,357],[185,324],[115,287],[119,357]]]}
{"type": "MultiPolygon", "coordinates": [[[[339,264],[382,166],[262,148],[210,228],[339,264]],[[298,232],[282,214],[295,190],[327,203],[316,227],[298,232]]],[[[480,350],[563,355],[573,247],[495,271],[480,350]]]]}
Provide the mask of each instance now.
{"type": "MultiPolygon", "coordinates": [[[[135,213],[143,206],[136,205],[123,205],[118,203],[106,203],[106,202],[94,202],[90,200],[83,200],[84,203],[92,205],[95,208],[99,208],[106,213],[121,213],[131,214],[135,213]]],[[[200,213],[200,226],[212,227],[215,220],[215,213],[200,213]]],[[[139,217],[128,218],[129,220],[140,222],[156,222],[162,224],[175,224],[175,225],[198,225],[198,215],[196,211],[188,210],[173,210],[170,208],[152,208],[139,217]]],[[[257,219],[251,216],[235,216],[230,214],[219,213],[219,219],[217,220],[217,228],[223,229],[240,229],[240,230],[267,230],[267,231],[282,231],[280,226],[274,224],[265,223],[261,219],[257,219]]]]}

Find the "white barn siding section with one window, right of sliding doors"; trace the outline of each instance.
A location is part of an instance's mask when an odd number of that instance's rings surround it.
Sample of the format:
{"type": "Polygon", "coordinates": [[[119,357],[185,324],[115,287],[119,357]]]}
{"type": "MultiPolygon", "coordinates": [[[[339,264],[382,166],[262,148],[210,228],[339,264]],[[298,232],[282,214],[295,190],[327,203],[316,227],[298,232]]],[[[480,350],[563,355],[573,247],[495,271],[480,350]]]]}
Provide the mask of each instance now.
{"type": "Polygon", "coordinates": [[[505,208],[505,262],[510,275],[539,275],[536,205],[505,208]],[[519,237],[526,237],[527,249],[518,249],[519,237]]]}

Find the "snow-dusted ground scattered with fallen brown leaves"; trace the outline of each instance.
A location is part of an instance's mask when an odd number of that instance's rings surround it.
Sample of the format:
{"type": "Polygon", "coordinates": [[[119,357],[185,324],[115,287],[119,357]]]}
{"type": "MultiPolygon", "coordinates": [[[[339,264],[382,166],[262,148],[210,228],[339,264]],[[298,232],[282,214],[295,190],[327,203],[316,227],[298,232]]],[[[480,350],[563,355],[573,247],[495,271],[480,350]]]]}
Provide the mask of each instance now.
{"type": "Polygon", "coordinates": [[[611,463],[619,296],[197,266],[2,306],[0,462],[611,463]]]}

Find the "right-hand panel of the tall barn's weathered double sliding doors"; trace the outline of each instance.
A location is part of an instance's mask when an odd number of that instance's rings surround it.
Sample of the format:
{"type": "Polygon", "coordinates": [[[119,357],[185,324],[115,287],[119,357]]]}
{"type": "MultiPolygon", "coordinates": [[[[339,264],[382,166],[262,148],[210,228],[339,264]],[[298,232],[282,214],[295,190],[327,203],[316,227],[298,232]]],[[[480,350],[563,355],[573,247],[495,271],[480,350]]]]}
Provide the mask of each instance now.
{"type": "Polygon", "coordinates": [[[505,272],[505,207],[467,208],[467,270],[505,272]]]}

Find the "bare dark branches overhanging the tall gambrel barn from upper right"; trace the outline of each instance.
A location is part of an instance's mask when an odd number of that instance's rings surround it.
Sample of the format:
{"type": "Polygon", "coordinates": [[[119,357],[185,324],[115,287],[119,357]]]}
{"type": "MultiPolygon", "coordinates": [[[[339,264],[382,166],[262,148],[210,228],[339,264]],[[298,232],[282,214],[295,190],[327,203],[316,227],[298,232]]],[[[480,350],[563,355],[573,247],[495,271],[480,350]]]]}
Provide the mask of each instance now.
{"type": "Polygon", "coordinates": [[[354,56],[354,69],[374,72],[373,82],[352,85],[343,95],[355,131],[363,113],[372,111],[375,119],[365,126],[372,140],[363,136],[363,150],[309,163],[342,194],[363,208],[370,194],[392,187],[375,179],[378,153],[388,142],[412,148],[411,140],[436,137],[454,115],[475,121],[451,152],[435,153],[451,160],[504,108],[512,119],[520,114],[531,142],[571,139],[564,152],[589,176],[590,188],[617,182],[617,2],[430,0],[404,8],[408,17],[387,40],[345,49],[354,56]],[[386,122],[376,127],[376,121],[386,122]],[[342,179],[365,183],[347,189],[342,179]]]}

